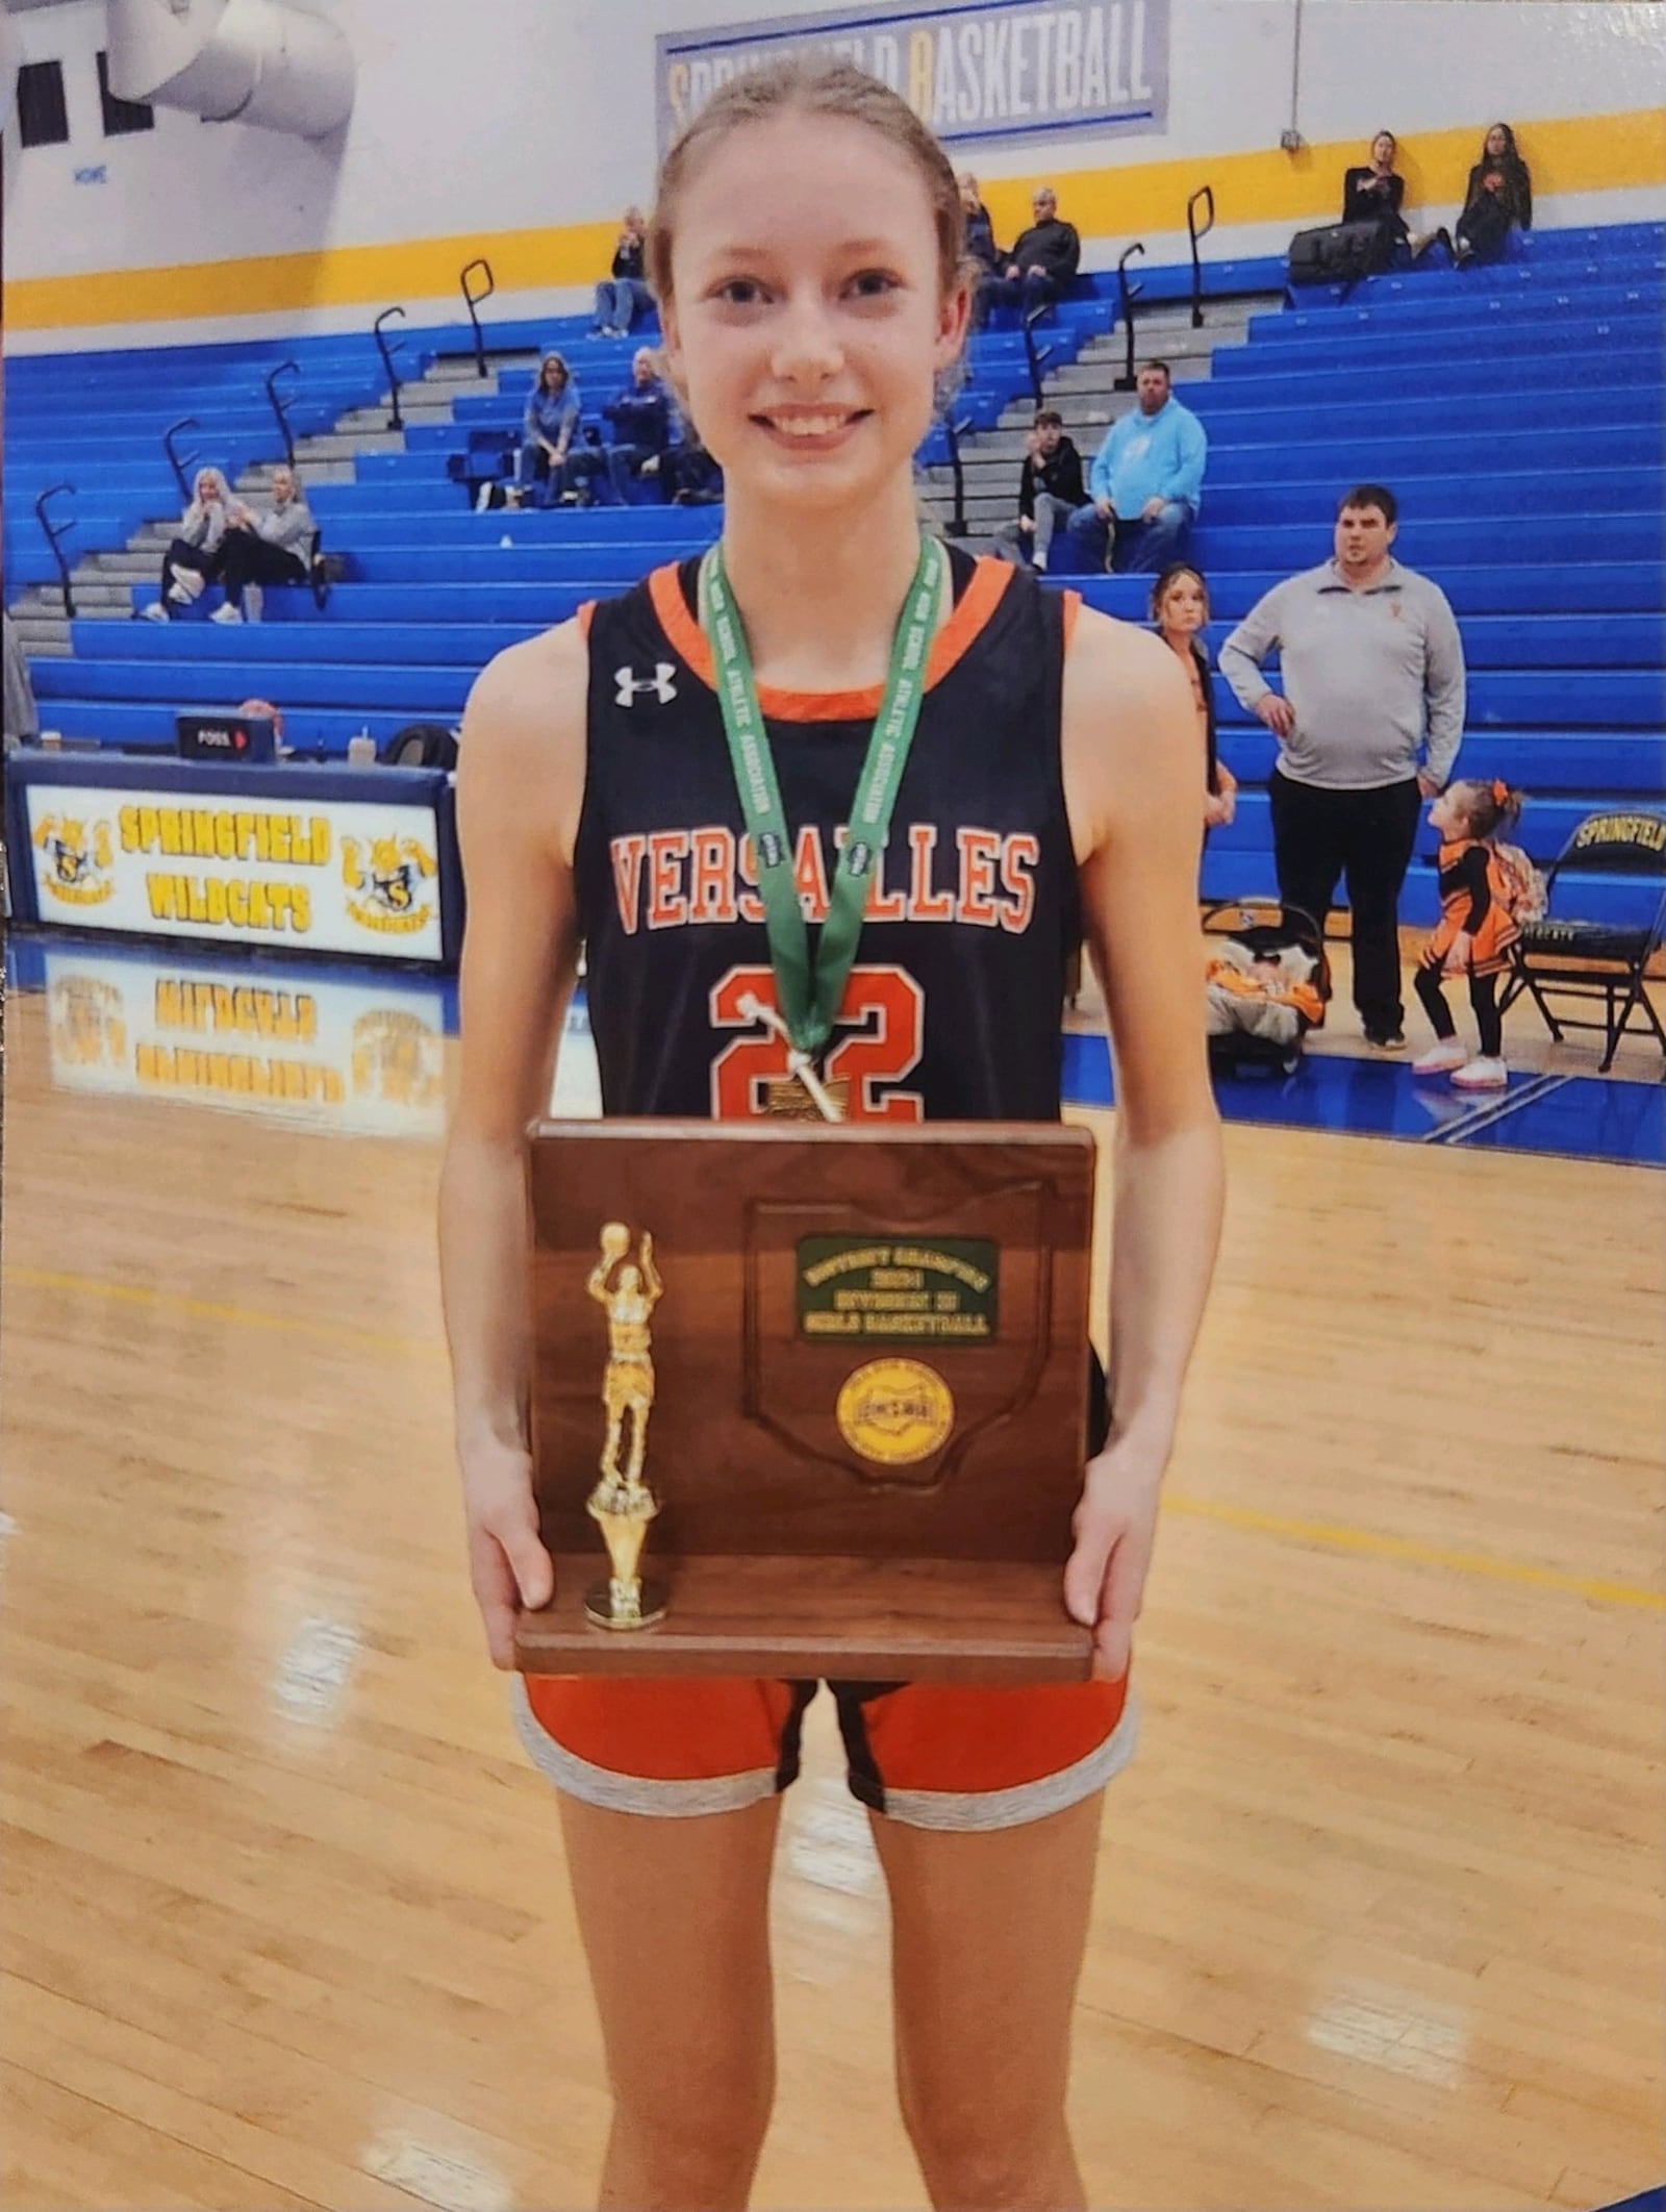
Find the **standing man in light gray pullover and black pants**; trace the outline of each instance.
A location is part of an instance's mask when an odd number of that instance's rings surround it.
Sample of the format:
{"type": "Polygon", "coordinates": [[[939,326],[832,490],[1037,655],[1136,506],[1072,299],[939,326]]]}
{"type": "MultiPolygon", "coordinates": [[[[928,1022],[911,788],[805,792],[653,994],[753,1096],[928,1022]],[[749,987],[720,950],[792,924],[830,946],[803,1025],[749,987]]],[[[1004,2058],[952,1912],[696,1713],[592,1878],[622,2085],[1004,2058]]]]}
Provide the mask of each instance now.
{"type": "Polygon", "coordinates": [[[1336,511],[1334,557],[1277,584],[1221,646],[1221,675],[1279,739],[1279,898],[1323,929],[1347,876],[1354,1004],[1387,1053],[1405,1048],[1401,885],[1465,714],[1458,624],[1445,593],[1394,560],[1394,493],[1358,484],[1336,511]],[[1274,650],[1283,697],[1261,675],[1274,650]]]}

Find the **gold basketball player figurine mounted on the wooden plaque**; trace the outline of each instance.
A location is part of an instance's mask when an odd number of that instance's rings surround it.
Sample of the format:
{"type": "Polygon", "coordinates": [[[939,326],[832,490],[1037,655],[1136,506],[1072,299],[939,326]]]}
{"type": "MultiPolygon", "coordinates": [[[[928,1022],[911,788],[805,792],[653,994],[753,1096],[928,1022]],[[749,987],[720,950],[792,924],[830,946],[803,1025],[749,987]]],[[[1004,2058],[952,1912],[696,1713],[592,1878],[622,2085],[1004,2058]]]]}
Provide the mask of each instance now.
{"type": "Polygon", "coordinates": [[[639,1263],[626,1259],[631,1230],[608,1221],[602,1230],[602,1259],[591,1267],[589,1294],[608,1316],[608,1365],[602,1376],[602,1405],[608,1436],[602,1444],[602,1480],[586,1509],[608,1546],[613,1577],[597,1582],[584,1595],[584,1613],[597,1628],[650,1628],[666,1613],[659,1584],[637,1575],[648,1522],[659,1500],[642,1480],[648,1455],[648,1413],[653,1411],[653,1332],[650,1318],[664,1294],[653,1263],[653,1234],[642,1232],[639,1263]],[[617,1270],[617,1276],[615,1276],[617,1270]],[[613,1281],[611,1281],[613,1279],[613,1281]],[[624,1425],[631,1420],[631,1451],[624,1449],[624,1425]]]}

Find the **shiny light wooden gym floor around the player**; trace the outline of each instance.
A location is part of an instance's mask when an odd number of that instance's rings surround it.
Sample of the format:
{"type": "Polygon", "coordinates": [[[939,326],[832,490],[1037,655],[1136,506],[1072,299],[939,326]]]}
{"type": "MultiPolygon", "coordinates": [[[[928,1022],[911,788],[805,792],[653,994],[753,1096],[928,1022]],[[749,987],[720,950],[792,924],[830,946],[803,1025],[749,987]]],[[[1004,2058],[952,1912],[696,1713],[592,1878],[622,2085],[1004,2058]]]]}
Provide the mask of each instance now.
{"type": "MultiPolygon", "coordinates": [[[[53,1088],[40,995],[7,1044],[0,2203],[584,2205],[602,2068],[462,1568],[436,1139],[53,1088]]],[[[1091,2201],[1611,2203],[1666,2172],[1666,1177],[1228,1148],[1106,1798],[1091,2201]]],[[[918,2205],[823,1708],[757,2203],[918,2205]]]]}

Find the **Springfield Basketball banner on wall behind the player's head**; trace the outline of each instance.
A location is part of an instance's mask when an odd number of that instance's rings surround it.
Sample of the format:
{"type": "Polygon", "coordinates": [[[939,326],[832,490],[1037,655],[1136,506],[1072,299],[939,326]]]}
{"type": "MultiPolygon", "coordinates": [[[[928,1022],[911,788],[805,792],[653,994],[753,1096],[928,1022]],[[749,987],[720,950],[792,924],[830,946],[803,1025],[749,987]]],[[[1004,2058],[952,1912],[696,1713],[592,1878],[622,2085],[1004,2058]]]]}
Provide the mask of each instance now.
{"type": "Polygon", "coordinates": [[[790,55],[881,77],[945,146],[1137,135],[1168,119],[1168,0],[856,7],[670,31],[655,44],[662,150],[730,77],[790,55]]]}

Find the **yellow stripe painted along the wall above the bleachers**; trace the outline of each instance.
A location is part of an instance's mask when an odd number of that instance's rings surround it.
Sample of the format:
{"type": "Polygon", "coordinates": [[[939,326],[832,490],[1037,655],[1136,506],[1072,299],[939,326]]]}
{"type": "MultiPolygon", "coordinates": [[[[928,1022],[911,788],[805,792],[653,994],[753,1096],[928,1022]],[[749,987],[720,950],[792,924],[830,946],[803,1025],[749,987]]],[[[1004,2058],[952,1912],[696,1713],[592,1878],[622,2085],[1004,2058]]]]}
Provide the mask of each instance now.
{"type": "MultiPolygon", "coordinates": [[[[1445,212],[1462,197],[1485,124],[1429,131],[1407,139],[1401,168],[1407,206],[1445,212]]],[[[1520,124],[1540,199],[1666,184],[1666,111],[1580,115],[1520,124]]],[[[1358,161],[1358,142],[1139,161],[1128,168],[1049,170],[1064,212],[1091,239],[1135,239],[1181,230],[1186,195],[1215,186],[1215,221],[1301,223],[1334,217],[1341,173],[1358,161]]],[[[1029,219],[1040,173],[991,179],[989,212],[1000,237],[1029,219]]],[[[615,223],[564,223],[500,230],[487,237],[409,239],[400,246],[334,246],[248,261],[195,261],[177,268],[104,270],[88,276],[20,276],[4,288],[13,330],[93,330],[119,323],[181,323],[192,316],[285,314],[305,307],[385,307],[394,301],[456,301],[458,270],[476,254],[491,261],[502,292],[582,285],[606,272],[615,223]]]]}

